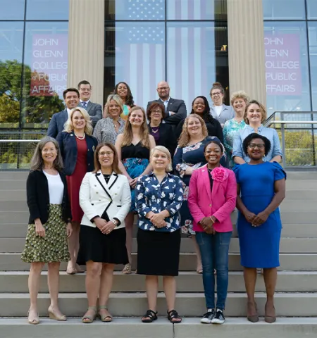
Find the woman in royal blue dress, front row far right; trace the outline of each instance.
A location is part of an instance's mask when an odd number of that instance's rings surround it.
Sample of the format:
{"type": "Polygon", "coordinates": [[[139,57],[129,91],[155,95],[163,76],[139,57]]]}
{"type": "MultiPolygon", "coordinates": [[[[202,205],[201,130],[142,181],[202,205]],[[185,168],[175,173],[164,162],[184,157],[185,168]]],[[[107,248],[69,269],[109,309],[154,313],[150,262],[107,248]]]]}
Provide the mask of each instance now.
{"type": "Polygon", "coordinates": [[[285,171],[276,162],[263,161],[271,149],[264,136],[252,133],[243,141],[243,151],[249,163],[236,165],[237,230],[240,242],[241,265],[247,289],[247,319],[259,321],[254,292],[256,268],[263,268],[266,286],[265,321],[274,323],[274,292],[277,267],[280,266],[280,206],[285,198],[285,171]]]}

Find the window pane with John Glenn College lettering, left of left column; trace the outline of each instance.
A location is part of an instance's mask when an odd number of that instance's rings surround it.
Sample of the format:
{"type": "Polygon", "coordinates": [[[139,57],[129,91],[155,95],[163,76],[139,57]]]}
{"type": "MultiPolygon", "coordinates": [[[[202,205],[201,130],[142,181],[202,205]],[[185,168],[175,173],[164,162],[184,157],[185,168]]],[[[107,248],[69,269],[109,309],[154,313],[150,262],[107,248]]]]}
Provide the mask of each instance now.
{"type": "Polygon", "coordinates": [[[63,110],[67,84],[68,23],[27,23],[22,102],[23,127],[46,127],[63,110]]]}

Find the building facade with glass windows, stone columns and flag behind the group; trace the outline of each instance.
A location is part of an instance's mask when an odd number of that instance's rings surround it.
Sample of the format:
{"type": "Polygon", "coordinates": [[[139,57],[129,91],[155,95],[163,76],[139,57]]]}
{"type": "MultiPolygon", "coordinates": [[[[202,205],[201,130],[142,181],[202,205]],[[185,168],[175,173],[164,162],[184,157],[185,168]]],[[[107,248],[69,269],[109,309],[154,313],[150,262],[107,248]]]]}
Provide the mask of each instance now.
{"type": "Polygon", "coordinates": [[[274,111],[317,111],[316,0],[0,0],[0,129],[45,130],[63,90],[167,80],[189,110],[214,81],[274,111]]]}

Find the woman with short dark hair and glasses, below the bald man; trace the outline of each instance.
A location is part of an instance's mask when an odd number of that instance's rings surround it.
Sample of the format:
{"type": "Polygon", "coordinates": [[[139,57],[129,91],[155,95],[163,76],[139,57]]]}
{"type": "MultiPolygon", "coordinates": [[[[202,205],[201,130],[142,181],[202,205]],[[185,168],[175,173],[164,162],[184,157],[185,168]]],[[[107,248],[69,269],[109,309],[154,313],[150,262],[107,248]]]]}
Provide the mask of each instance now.
{"type": "Polygon", "coordinates": [[[154,137],[156,146],[165,146],[173,158],[176,149],[175,131],[171,125],[162,123],[165,114],[163,104],[153,102],[147,108],[149,133],[154,137]]]}

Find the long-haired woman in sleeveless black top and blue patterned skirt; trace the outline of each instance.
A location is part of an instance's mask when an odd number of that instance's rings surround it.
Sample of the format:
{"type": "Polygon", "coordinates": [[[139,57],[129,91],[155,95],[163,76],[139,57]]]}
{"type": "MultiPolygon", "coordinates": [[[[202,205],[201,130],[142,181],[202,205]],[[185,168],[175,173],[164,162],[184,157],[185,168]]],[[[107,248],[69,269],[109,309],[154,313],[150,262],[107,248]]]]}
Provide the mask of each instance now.
{"type": "Polygon", "coordinates": [[[155,140],[149,134],[147,118],[142,107],[135,106],[128,113],[123,134],[119,134],[116,140],[116,151],[119,157],[119,168],[128,178],[131,189],[131,209],[125,218],[125,232],[127,236],[127,251],[129,263],[123,268],[124,274],[131,273],[132,263],[132,227],[135,215],[135,186],[137,179],[151,172],[149,154],[155,146],[155,140]]]}

